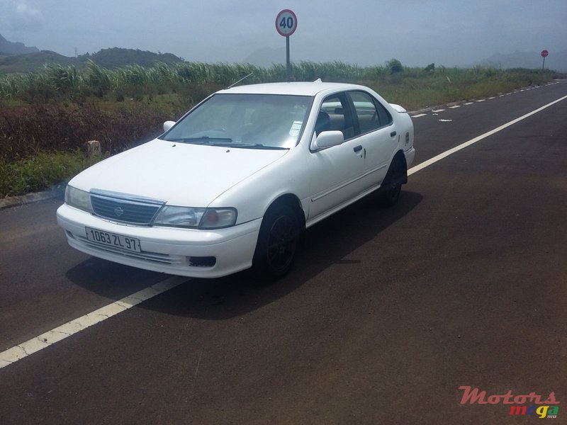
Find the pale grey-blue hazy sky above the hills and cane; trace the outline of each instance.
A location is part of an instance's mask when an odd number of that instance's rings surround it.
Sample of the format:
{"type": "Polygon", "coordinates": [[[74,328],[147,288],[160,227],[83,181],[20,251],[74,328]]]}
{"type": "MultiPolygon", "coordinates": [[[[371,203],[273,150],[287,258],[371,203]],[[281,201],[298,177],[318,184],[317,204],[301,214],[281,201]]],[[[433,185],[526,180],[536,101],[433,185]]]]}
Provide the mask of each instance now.
{"type": "Polygon", "coordinates": [[[65,56],[126,47],[243,62],[285,47],[283,8],[298,16],[296,61],[450,67],[567,49],[567,0],[0,0],[0,34],[65,56]]]}

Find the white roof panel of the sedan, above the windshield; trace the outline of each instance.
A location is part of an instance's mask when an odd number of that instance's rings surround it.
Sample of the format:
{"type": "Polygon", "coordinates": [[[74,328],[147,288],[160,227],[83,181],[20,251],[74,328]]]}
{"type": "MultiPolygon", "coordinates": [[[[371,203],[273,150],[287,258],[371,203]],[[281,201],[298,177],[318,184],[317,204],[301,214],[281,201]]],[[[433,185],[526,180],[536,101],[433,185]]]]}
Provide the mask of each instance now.
{"type": "Polygon", "coordinates": [[[230,94],[290,94],[298,96],[315,96],[322,91],[341,91],[353,89],[367,89],[357,84],[346,83],[323,83],[315,82],[291,82],[291,83],[263,83],[249,84],[247,86],[236,86],[230,89],[220,90],[217,93],[230,94]]]}

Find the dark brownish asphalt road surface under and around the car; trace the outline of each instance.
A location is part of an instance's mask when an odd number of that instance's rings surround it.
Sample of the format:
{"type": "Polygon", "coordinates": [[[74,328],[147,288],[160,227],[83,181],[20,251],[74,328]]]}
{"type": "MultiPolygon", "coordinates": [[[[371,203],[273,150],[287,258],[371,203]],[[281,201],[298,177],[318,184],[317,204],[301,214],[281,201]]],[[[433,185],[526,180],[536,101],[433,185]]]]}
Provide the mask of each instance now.
{"type": "MultiPolygon", "coordinates": [[[[415,164],[566,95],[414,118],[415,164]]],[[[461,386],[554,392],[565,423],[566,135],[567,99],[310,229],[277,283],[188,279],[0,368],[0,424],[538,420],[461,386]]],[[[167,278],[69,248],[60,202],[0,210],[0,352],[167,278]]]]}

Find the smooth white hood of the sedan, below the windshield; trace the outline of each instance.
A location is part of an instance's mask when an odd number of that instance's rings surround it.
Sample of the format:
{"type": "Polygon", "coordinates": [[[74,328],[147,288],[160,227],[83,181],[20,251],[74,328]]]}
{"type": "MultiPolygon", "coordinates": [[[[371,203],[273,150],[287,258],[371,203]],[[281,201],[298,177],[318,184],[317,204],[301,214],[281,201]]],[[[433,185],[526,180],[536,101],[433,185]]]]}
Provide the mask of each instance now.
{"type": "Polygon", "coordinates": [[[69,185],[84,191],[97,188],[155,198],[169,205],[206,207],[287,152],[155,139],[91,166],[69,185]]]}

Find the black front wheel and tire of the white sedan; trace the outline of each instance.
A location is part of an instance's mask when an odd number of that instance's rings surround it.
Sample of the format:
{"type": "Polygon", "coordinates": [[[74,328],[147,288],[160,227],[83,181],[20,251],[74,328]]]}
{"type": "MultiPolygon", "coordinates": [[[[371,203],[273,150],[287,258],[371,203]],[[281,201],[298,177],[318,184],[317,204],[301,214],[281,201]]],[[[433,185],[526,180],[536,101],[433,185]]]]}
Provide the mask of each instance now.
{"type": "Polygon", "coordinates": [[[262,220],[254,251],[254,273],[264,280],[286,276],[296,259],[300,233],[293,208],[285,204],[270,207],[262,220]]]}

